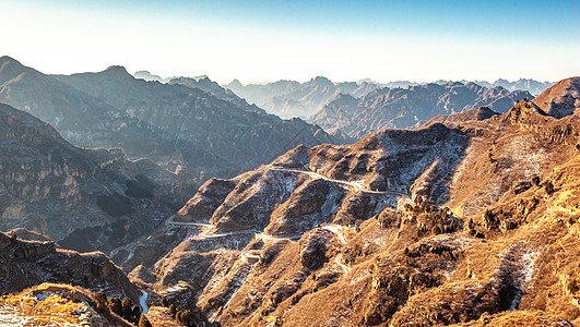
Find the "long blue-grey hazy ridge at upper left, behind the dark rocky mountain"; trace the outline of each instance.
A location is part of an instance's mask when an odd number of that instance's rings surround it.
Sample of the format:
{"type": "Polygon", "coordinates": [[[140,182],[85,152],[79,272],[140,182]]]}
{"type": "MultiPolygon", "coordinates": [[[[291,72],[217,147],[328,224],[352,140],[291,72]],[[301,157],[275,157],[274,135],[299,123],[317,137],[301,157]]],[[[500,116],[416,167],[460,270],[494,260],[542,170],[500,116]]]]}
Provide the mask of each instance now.
{"type": "MultiPolygon", "coordinates": [[[[198,85],[204,83],[215,88],[205,80],[198,85]]],[[[37,116],[73,144],[121,147],[130,158],[149,157],[201,182],[253,169],[300,143],[347,142],[223,95],[145,82],[122,66],[49,76],[0,58],[0,101],[37,116]]]]}

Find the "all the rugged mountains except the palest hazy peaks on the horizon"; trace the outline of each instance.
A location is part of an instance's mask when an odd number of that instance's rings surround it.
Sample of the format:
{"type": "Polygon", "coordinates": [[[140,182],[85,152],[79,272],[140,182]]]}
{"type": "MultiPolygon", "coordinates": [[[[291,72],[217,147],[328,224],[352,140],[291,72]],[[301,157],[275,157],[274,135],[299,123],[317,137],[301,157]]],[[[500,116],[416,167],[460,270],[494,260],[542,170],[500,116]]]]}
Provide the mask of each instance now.
{"type": "Polygon", "coordinates": [[[205,77],[2,57],[0,325],[580,324],[580,77],[333,96],[331,135],[205,77]]]}

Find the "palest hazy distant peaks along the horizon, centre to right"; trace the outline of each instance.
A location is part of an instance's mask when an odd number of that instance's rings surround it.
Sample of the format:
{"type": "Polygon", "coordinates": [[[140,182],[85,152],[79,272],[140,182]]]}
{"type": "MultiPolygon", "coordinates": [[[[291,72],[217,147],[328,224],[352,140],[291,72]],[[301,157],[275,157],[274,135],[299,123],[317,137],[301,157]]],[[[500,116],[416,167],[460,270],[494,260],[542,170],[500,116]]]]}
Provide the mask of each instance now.
{"type": "MultiPolygon", "coordinates": [[[[459,82],[462,84],[470,83],[470,81],[459,82]]],[[[431,84],[445,85],[449,81],[439,80],[431,84]]],[[[306,83],[277,81],[264,84],[242,85],[239,81],[234,80],[232,83],[223,86],[233,90],[239,97],[245,98],[250,104],[256,104],[260,108],[265,109],[270,113],[283,118],[300,117],[308,119],[322,109],[329,101],[333,100],[339,94],[358,98],[377,88],[407,88],[424,84],[426,83],[410,81],[378,83],[371,80],[334,83],[325,77],[319,76],[306,83]]],[[[497,80],[492,83],[476,81],[475,84],[487,88],[501,86],[509,92],[528,90],[532,95],[538,95],[554,83],[520,78],[514,82],[508,82],[506,80],[497,80]]]]}

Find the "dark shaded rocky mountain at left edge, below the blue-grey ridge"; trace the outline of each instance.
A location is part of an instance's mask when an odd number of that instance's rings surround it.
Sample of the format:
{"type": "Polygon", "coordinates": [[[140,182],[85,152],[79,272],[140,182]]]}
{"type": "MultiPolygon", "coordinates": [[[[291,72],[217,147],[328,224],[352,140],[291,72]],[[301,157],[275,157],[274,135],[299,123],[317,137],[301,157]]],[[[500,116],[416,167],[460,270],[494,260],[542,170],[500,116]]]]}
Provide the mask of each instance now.
{"type": "Polygon", "coordinates": [[[154,229],[196,185],[122,149],[81,148],[0,104],[0,228],[69,249],[110,251],[154,229]]]}

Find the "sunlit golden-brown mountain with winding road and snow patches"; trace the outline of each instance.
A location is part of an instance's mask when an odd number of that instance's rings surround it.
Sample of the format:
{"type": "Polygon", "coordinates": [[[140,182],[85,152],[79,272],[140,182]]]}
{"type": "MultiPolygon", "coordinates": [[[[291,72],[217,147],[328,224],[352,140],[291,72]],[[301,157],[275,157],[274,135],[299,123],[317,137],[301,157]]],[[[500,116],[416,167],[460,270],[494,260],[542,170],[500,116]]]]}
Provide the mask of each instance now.
{"type": "MultiPolygon", "coordinates": [[[[576,104],[577,80],[538,99],[576,104]]],[[[223,326],[577,325],[580,120],[547,111],[472,109],[209,180],[157,231],[181,243],[130,276],[196,290],[223,326]]]]}

